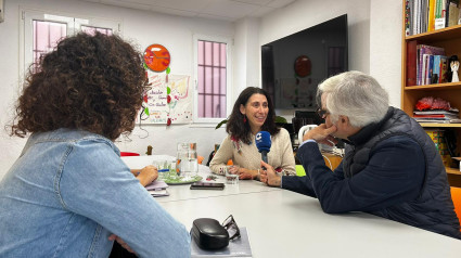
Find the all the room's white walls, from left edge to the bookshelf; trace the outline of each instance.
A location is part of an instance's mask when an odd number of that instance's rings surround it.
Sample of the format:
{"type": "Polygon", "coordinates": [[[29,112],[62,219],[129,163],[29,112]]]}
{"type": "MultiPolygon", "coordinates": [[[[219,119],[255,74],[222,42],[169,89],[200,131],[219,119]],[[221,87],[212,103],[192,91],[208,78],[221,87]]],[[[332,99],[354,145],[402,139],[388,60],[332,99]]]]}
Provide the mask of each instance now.
{"type": "MultiPolygon", "coordinates": [[[[299,31],[332,17],[348,14],[349,69],[370,73],[387,89],[390,103],[400,103],[401,53],[400,0],[297,0],[262,17],[245,18],[235,24],[187,18],[152,12],[101,5],[71,0],[15,0],[5,1],[5,21],[0,23],[0,122],[4,126],[13,114],[18,80],[20,5],[27,9],[54,11],[64,14],[121,20],[124,37],[132,39],[143,50],[151,43],[162,43],[171,53],[171,74],[192,75],[192,35],[215,35],[234,38],[232,98],[246,86],[260,86],[260,46],[299,31]],[[242,66],[242,67],[241,67],[242,66]],[[239,68],[240,67],[240,68],[239,68]]],[[[277,111],[289,116],[293,111],[277,111]]],[[[148,145],[154,154],[175,155],[176,142],[195,141],[199,153],[205,156],[225,138],[225,129],[215,125],[143,126],[136,128],[131,141],[117,142],[121,151],[144,153],[148,145]]],[[[24,139],[10,138],[0,130],[0,178],[17,158],[24,139]]]]}

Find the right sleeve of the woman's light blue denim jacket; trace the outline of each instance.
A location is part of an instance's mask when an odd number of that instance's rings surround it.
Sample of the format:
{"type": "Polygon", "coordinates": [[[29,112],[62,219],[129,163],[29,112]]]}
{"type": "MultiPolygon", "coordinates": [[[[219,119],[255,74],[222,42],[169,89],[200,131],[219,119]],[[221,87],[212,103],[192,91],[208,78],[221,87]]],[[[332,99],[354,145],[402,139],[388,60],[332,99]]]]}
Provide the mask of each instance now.
{"type": "Polygon", "coordinates": [[[121,237],[140,257],[190,257],[190,235],[104,142],[72,146],[60,181],[62,203],[121,237]]]}

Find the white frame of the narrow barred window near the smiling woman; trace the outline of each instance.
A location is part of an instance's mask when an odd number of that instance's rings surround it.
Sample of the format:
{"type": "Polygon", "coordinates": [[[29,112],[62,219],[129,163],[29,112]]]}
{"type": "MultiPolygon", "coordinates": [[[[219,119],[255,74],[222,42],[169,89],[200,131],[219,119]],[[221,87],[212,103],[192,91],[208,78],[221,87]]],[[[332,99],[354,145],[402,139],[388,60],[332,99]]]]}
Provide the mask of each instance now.
{"type": "Polygon", "coordinates": [[[227,119],[232,111],[232,98],[231,98],[231,76],[232,76],[232,44],[233,41],[229,37],[217,37],[209,35],[193,35],[193,53],[194,53],[194,62],[193,62],[193,73],[194,73],[194,112],[192,116],[192,121],[194,124],[218,124],[223,119],[227,119]],[[226,43],[226,117],[217,117],[217,118],[202,118],[199,117],[199,41],[214,41],[226,43]]]}

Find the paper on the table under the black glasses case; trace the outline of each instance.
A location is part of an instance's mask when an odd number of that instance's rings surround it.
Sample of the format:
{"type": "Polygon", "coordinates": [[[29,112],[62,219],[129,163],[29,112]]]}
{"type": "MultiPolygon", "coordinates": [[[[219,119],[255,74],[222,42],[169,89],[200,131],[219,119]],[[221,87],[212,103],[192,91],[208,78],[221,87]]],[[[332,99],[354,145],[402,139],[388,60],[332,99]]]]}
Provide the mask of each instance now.
{"type": "MultiPolygon", "coordinates": [[[[240,227],[239,227],[240,228],[240,227]]],[[[246,228],[240,228],[240,237],[229,242],[226,248],[218,250],[201,249],[195,243],[194,237],[191,241],[191,258],[200,257],[252,257],[252,247],[249,246],[248,233],[246,228]]]]}

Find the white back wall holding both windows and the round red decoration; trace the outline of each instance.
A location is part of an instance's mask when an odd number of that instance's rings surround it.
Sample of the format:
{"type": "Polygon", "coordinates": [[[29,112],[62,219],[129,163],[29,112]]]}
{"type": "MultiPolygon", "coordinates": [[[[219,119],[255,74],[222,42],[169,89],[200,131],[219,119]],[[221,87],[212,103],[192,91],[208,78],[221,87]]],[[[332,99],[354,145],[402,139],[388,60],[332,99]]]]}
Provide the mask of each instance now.
{"type": "MultiPolygon", "coordinates": [[[[192,35],[214,35],[233,37],[232,23],[188,18],[131,9],[101,5],[98,3],[64,1],[64,0],[17,0],[5,2],[5,21],[0,23],[0,78],[1,94],[0,114],[1,125],[10,121],[13,114],[14,101],[18,88],[18,28],[20,9],[52,11],[68,15],[92,16],[108,20],[119,20],[124,25],[124,38],[131,40],[144,50],[149,44],[161,43],[171,53],[171,74],[193,75],[192,35]]],[[[166,125],[138,127],[127,139],[120,139],[116,145],[121,151],[131,151],[144,154],[148,145],[152,145],[154,154],[176,155],[176,143],[182,141],[197,142],[200,155],[208,160],[208,154],[215,143],[221,143],[226,137],[225,128],[215,130],[216,125],[166,125]],[[149,137],[148,136],[149,132],[149,137]],[[144,138],[146,137],[146,138],[144,138]]],[[[4,130],[0,130],[0,179],[8,171],[21,153],[24,139],[10,138],[4,130]]]]}

